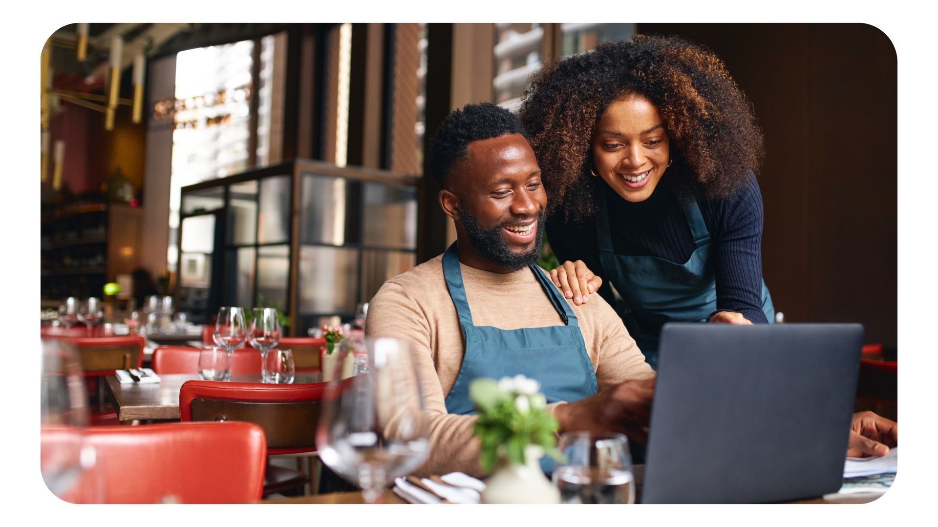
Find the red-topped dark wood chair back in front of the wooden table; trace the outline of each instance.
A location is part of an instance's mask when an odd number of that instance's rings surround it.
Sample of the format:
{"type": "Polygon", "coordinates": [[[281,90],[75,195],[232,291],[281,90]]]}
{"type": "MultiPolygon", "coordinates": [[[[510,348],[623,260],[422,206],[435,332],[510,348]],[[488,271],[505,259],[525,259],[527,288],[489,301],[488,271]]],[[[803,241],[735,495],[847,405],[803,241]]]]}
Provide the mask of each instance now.
{"type": "Polygon", "coordinates": [[[188,381],[179,390],[179,418],[256,423],[268,454],[313,452],[326,384],[188,381]]]}

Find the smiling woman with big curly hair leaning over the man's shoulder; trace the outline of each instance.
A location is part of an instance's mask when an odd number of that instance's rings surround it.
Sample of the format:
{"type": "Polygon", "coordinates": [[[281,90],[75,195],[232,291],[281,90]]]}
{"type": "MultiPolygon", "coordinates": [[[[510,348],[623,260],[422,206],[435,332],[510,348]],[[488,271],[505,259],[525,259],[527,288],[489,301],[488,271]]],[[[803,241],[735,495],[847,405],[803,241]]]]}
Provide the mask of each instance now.
{"type": "MultiPolygon", "coordinates": [[[[713,53],[680,38],[604,44],[542,70],[521,117],[550,196],[551,247],[606,279],[599,293],[616,306],[612,282],[653,368],[667,322],[773,321],[752,172],[763,137],[713,53]]],[[[552,275],[581,296],[580,270],[552,275]]]]}

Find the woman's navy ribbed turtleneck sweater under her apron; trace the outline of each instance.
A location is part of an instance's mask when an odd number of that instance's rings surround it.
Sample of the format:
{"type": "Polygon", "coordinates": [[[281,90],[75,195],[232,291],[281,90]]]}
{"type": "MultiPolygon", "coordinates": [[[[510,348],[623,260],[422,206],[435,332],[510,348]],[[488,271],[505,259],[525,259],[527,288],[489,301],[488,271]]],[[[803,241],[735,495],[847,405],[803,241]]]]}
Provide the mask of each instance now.
{"type": "MultiPolygon", "coordinates": [[[[604,183],[600,183],[604,185],[604,183]]],[[[661,182],[645,201],[630,203],[613,190],[608,196],[609,223],[616,254],[656,256],[684,264],[696,246],[677,197],[661,182]]],[[[711,258],[717,270],[717,309],[738,311],[753,323],[765,323],[762,310],[763,203],[755,175],[728,199],[698,200],[710,233],[711,258]]],[[[611,304],[613,294],[599,264],[596,223],[579,224],[555,214],[547,222],[547,237],[560,262],[582,260],[604,279],[599,293],[611,304]]]]}

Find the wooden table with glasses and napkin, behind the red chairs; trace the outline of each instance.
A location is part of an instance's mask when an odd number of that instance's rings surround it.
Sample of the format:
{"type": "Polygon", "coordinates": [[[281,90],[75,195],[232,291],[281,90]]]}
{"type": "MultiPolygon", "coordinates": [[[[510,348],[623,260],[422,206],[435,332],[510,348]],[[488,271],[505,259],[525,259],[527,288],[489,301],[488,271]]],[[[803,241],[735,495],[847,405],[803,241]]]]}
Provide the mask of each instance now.
{"type": "MultiPolygon", "coordinates": [[[[107,390],[117,418],[121,421],[134,420],[178,420],[179,388],[186,381],[199,380],[198,373],[161,374],[159,383],[120,384],[116,375],[108,375],[107,390]]],[[[323,375],[319,371],[297,372],[294,384],[319,383],[323,375]]],[[[260,374],[232,375],[235,383],[260,383],[260,374]]]]}

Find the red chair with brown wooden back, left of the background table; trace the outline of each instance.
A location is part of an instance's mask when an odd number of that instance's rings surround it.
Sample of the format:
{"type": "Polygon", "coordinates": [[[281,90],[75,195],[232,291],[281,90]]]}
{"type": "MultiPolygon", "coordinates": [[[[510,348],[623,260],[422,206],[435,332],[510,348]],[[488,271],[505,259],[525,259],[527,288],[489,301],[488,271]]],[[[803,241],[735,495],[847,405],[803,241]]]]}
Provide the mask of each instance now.
{"type": "Polygon", "coordinates": [[[117,425],[117,414],[105,404],[104,380],[100,377],[113,375],[114,369],[124,368],[124,355],[130,355],[130,368],[144,364],[146,341],[139,335],[124,337],[88,337],[64,339],[75,346],[82,362],[82,370],[91,396],[91,424],[117,425]]]}

